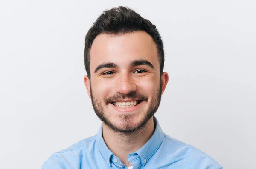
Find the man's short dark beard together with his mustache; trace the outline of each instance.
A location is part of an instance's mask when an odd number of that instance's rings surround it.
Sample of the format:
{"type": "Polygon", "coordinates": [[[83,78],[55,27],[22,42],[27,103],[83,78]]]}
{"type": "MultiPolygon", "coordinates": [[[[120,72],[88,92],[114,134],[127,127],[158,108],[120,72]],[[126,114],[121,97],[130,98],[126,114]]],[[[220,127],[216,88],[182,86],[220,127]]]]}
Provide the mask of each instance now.
{"type": "MultiPolygon", "coordinates": [[[[156,111],[160,105],[160,102],[161,102],[162,88],[161,88],[161,80],[160,80],[160,85],[159,85],[158,89],[154,91],[154,96],[152,97],[152,98],[156,98],[156,99],[153,99],[151,101],[151,103],[148,103],[151,106],[148,108],[148,110],[146,110],[145,117],[143,118],[143,120],[140,122],[139,125],[137,125],[137,127],[131,128],[131,127],[127,126],[127,129],[125,129],[125,130],[120,129],[111,123],[109,118],[106,117],[106,112],[104,111],[103,105],[111,104],[110,102],[113,100],[119,100],[119,99],[125,99],[125,98],[140,99],[140,100],[148,102],[148,97],[143,94],[137,93],[135,91],[132,91],[128,94],[116,93],[116,95],[106,98],[105,103],[104,102],[102,103],[101,101],[94,99],[91,85],[90,85],[90,91],[91,91],[90,95],[91,95],[93,109],[94,109],[96,115],[98,116],[98,118],[105,125],[107,125],[111,130],[113,130],[115,132],[131,134],[131,133],[138,132],[138,131],[142,130],[145,127],[145,125],[147,124],[148,120],[156,113],[156,111]]],[[[126,123],[128,124],[128,120],[131,118],[131,116],[132,115],[122,115],[122,120],[126,121],[126,123]]]]}

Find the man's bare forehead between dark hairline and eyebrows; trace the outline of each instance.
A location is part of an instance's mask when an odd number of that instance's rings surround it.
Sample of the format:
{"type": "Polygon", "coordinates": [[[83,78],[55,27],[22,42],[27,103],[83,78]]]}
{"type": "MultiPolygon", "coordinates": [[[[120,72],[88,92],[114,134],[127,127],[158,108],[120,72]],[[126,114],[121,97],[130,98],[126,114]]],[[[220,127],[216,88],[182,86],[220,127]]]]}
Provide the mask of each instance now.
{"type": "Polygon", "coordinates": [[[125,65],[138,59],[146,59],[155,68],[159,67],[157,46],[152,37],[144,31],[100,34],[94,39],[90,49],[91,69],[105,62],[125,65]]]}

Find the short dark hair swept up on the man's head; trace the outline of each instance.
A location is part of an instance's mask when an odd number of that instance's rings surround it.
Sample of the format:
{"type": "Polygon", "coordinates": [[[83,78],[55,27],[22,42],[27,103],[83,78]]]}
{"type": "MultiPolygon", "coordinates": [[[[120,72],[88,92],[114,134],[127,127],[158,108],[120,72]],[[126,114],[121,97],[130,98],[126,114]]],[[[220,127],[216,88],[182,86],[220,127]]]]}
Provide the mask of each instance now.
{"type": "Polygon", "coordinates": [[[145,31],[157,45],[160,74],[163,73],[164,50],[163,41],[155,25],[144,19],[130,8],[119,6],[104,11],[93,23],[85,36],[84,65],[90,79],[90,48],[99,34],[125,34],[134,31],[145,31]]]}

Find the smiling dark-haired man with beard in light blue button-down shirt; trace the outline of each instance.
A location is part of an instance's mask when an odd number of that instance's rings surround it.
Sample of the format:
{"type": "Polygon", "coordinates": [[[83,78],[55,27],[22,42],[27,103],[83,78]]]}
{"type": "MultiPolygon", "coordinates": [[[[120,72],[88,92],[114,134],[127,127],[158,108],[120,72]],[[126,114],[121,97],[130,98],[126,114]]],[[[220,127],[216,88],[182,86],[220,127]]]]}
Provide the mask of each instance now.
{"type": "Polygon", "coordinates": [[[42,169],[222,169],[164,134],[153,115],[168,83],[159,32],[126,7],[103,12],[85,37],[84,84],[97,135],[53,154],[42,169]]]}

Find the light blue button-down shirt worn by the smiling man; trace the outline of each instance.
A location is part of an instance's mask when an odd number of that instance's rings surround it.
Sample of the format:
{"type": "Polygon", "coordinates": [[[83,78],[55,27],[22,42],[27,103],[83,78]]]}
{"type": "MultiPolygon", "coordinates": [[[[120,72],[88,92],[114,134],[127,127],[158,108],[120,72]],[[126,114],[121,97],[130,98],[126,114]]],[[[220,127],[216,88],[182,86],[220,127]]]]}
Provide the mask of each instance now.
{"type": "MultiPolygon", "coordinates": [[[[222,169],[210,156],[163,133],[157,118],[154,134],[138,151],[128,155],[134,169],[222,169]]],[[[42,169],[127,169],[106,146],[99,132],[54,153],[42,169]]]]}

